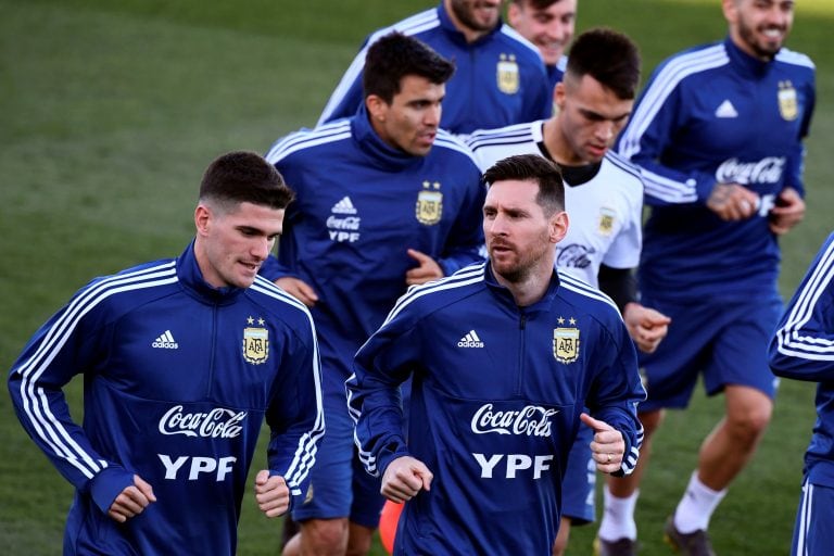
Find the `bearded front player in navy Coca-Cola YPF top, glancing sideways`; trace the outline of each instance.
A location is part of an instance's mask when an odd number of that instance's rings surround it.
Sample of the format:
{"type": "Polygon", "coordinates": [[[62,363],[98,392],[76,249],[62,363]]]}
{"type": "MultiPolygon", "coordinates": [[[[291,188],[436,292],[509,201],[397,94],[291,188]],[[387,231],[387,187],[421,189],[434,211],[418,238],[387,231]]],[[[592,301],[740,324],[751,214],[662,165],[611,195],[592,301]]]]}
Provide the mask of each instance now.
{"type": "Polygon", "coordinates": [[[554,268],[568,232],[558,167],[522,154],[484,179],[488,262],[409,289],[346,383],[362,460],[408,501],[394,554],[549,554],[580,427],[598,470],[636,464],[634,345],[608,298],[554,268]]]}

